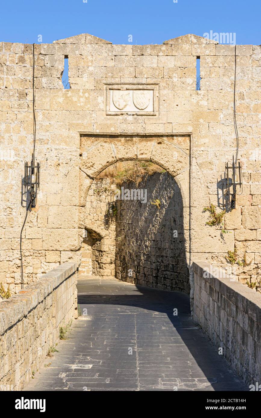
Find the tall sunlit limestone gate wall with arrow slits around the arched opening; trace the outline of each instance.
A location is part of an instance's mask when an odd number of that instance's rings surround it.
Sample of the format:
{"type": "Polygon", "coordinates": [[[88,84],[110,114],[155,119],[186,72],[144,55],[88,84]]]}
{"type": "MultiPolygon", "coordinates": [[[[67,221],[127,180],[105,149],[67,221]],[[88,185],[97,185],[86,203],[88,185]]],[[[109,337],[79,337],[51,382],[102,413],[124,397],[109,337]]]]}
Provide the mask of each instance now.
{"type": "MultiPolygon", "coordinates": [[[[244,188],[237,209],[225,214],[230,233],[224,239],[217,229],[205,227],[202,208],[222,203],[225,162],[235,155],[234,46],[191,34],[161,45],[113,45],[81,34],[36,45],[35,58],[41,185],[38,206],[23,232],[25,283],[59,263],[80,264],[84,229],[95,230],[86,211],[93,179],[116,161],[136,158],[159,164],[179,184],[184,222],[190,217],[187,260],[227,263],[227,251],[236,242],[240,257],[246,252],[252,260],[256,280],[261,265],[261,46],[236,47],[244,188]],[[61,82],[65,56],[70,89],[61,82]],[[141,109],[140,93],[150,100],[150,111],[141,109]],[[128,98],[131,103],[124,108],[128,98]]],[[[32,45],[0,43],[0,282],[9,283],[12,293],[21,283],[21,177],[33,148],[32,64],[32,45]]]]}

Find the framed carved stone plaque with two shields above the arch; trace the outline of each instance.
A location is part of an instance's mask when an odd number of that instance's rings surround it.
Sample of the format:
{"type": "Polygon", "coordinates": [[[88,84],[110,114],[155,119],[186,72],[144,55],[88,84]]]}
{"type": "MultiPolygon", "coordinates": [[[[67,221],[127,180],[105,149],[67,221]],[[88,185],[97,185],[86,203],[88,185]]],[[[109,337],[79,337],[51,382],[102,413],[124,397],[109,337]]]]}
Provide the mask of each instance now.
{"type": "Polygon", "coordinates": [[[158,91],[155,86],[107,87],[107,115],[155,115],[158,91]]]}

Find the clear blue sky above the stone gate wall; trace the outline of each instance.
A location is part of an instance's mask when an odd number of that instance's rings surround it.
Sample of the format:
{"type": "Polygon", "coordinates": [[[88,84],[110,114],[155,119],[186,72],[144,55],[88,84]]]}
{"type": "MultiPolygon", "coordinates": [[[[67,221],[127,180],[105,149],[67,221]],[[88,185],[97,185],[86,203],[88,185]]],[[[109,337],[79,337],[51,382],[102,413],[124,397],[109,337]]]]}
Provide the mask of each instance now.
{"type": "Polygon", "coordinates": [[[235,32],[261,44],[261,0],[2,0],[0,41],[43,43],[90,33],[112,43],[162,43],[186,33],[235,32]]]}

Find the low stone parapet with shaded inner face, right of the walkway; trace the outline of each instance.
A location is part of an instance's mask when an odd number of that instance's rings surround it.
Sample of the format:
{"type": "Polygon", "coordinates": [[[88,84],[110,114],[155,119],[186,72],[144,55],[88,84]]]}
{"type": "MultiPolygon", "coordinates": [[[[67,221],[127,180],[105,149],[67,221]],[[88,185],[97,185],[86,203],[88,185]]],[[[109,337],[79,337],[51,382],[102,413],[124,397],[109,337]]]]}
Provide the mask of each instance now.
{"type": "Polygon", "coordinates": [[[193,263],[193,319],[247,385],[261,382],[261,296],[208,263],[193,263]],[[210,274],[210,273],[212,274],[210,274]]]}

